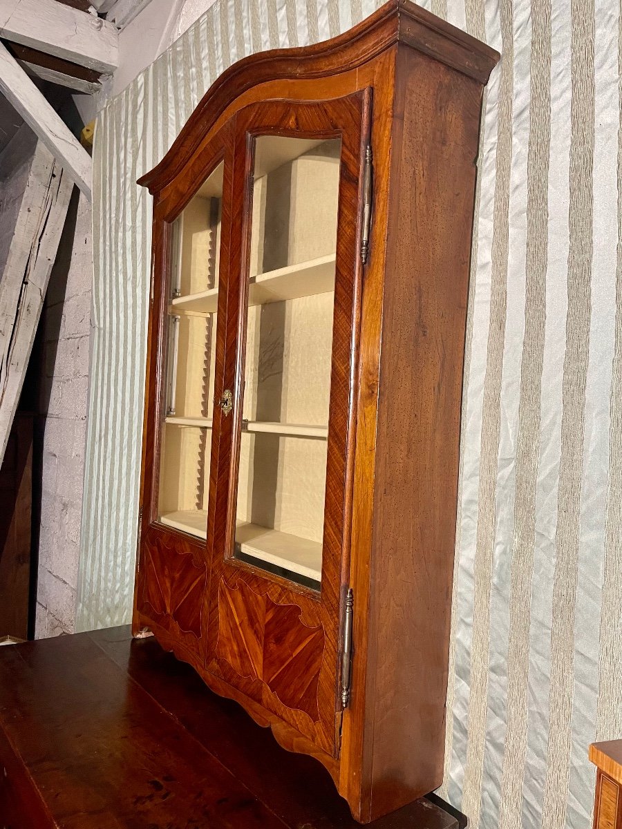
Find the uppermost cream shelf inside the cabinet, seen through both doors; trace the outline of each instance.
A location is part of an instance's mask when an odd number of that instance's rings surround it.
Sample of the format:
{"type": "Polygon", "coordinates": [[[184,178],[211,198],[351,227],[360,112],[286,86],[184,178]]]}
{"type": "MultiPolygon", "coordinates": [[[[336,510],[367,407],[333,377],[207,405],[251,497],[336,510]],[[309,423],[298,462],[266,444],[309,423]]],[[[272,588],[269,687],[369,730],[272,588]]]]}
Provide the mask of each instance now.
{"type": "MultiPolygon", "coordinates": [[[[310,297],[328,293],[335,287],[335,255],[320,256],[308,262],[289,264],[286,268],[258,274],[251,280],[249,305],[279,303],[284,299],[310,297]]],[[[200,293],[187,293],[171,303],[173,313],[194,311],[215,313],[218,308],[218,288],[200,293]]]]}

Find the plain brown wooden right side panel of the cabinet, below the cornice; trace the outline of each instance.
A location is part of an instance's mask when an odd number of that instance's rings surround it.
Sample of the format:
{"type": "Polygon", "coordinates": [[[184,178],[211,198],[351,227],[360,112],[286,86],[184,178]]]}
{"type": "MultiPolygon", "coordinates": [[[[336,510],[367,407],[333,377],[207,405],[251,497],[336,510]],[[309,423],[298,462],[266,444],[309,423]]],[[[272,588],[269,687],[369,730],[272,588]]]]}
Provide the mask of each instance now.
{"type": "Polygon", "coordinates": [[[371,814],[442,782],[474,159],[482,88],[397,61],[370,638],[371,814]]]}

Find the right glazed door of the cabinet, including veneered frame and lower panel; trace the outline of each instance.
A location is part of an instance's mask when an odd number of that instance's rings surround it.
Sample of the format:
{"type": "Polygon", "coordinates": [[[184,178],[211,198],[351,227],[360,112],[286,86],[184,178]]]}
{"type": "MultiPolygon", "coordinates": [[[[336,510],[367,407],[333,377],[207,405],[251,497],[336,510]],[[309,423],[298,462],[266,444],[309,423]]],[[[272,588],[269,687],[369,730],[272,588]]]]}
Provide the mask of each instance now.
{"type": "Polygon", "coordinates": [[[215,414],[207,670],[333,755],[368,109],[358,93],[237,114],[215,414]]]}

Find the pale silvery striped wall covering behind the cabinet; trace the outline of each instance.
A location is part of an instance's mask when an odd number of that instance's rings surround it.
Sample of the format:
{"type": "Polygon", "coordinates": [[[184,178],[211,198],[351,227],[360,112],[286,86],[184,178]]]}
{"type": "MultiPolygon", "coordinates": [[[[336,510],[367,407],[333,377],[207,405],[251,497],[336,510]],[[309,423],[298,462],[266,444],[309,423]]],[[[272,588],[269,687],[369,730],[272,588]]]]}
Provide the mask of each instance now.
{"type": "MultiPolygon", "coordinates": [[[[375,0],[218,0],[100,114],[81,629],[132,604],[150,202],[227,65],[375,0]]],[[[427,0],[495,46],[464,382],[441,794],[474,829],[582,829],[622,737],[622,30],[617,0],[427,0]]]]}

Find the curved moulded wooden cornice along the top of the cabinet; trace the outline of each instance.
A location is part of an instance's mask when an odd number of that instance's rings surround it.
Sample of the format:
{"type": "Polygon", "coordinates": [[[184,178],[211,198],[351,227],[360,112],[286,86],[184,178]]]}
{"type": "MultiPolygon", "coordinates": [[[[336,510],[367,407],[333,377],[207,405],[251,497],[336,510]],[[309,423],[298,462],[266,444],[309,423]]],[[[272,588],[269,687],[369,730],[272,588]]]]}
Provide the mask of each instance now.
{"type": "Polygon", "coordinates": [[[271,80],[322,78],[356,69],[396,43],[405,43],[482,85],[499,53],[411,0],[389,0],[357,26],[311,46],[261,51],[229,66],[211,85],[161,162],[138,179],[163,190],[192,157],[231,99],[271,80]]]}

